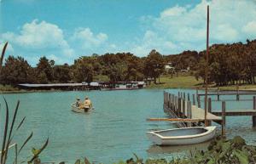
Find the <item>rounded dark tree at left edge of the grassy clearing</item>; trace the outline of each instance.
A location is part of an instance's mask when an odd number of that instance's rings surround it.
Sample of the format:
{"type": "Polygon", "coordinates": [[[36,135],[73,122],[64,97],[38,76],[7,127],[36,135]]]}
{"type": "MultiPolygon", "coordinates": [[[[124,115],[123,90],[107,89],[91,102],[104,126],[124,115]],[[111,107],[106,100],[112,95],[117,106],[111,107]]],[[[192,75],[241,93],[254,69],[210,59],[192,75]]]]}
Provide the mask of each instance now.
{"type": "Polygon", "coordinates": [[[154,78],[154,83],[156,83],[156,78],[164,72],[164,66],[162,55],[153,49],[145,60],[144,75],[154,78]]]}

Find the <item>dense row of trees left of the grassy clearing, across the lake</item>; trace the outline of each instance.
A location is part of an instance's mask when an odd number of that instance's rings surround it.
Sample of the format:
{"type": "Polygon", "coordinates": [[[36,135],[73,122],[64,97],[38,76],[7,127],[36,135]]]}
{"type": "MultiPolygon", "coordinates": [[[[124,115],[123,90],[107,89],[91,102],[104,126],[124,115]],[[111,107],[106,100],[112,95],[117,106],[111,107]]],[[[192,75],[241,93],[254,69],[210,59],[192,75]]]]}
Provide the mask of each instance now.
{"type": "Polygon", "coordinates": [[[156,50],[147,58],[131,53],[93,54],[75,59],[73,65],[55,65],[54,60],[43,56],[35,67],[21,56],[9,55],[2,67],[0,83],[131,82],[143,81],[146,76],[156,79],[163,71],[164,58],[156,50]]]}

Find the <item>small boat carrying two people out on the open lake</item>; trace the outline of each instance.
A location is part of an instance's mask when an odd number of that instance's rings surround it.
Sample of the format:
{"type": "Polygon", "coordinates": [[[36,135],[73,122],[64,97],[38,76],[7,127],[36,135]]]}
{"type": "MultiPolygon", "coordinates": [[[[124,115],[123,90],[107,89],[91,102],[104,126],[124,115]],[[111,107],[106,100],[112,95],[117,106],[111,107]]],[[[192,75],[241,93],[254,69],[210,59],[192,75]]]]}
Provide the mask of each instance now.
{"type": "Polygon", "coordinates": [[[94,110],[88,96],[85,97],[84,103],[80,101],[80,98],[77,98],[76,102],[71,105],[71,108],[74,112],[77,113],[86,113],[90,110],[94,110]]]}

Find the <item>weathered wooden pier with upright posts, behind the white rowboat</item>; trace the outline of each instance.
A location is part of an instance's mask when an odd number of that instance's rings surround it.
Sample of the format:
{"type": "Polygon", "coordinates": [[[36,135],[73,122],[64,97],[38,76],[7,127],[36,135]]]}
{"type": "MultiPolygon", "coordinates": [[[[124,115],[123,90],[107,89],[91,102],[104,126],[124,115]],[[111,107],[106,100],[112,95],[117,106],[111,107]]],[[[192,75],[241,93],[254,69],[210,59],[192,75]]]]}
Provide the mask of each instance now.
{"type": "MultiPolygon", "coordinates": [[[[249,93],[248,95],[256,94],[249,93]]],[[[205,110],[201,108],[200,96],[203,94],[164,92],[164,111],[171,117],[166,121],[176,121],[178,127],[201,126],[205,121],[205,110]],[[180,121],[180,122],[178,122],[180,121]]],[[[209,95],[218,95],[210,93],[209,95]]],[[[230,94],[229,94],[230,95],[230,94]]],[[[222,133],[226,126],[226,116],[252,116],[253,127],[256,127],[256,96],[253,96],[253,109],[226,110],[226,102],[222,101],[222,110],[212,109],[212,98],[207,99],[207,125],[216,122],[222,126],[222,133]]]]}

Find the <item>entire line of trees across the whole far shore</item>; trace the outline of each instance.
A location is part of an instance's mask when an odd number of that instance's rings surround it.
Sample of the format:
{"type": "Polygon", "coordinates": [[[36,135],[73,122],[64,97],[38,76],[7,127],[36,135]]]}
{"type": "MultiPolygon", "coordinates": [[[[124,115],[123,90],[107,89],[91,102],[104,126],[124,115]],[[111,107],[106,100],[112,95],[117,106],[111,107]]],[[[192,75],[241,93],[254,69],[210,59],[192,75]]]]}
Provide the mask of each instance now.
{"type": "MultiPolygon", "coordinates": [[[[5,59],[0,83],[56,83],[93,81],[143,81],[156,79],[172,63],[176,71],[189,67],[195,78],[205,80],[206,51],[184,51],[181,54],[162,55],[152,50],[146,57],[131,53],[92,54],[75,59],[73,65],[55,65],[45,56],[32,67],[26,59],[10,55],[5,59]]],[[[208,81],[218,86],[236,83],[255,83],[256,40],[246,43],[213,44],[210,47],[208,81]]]]}

